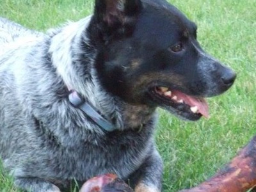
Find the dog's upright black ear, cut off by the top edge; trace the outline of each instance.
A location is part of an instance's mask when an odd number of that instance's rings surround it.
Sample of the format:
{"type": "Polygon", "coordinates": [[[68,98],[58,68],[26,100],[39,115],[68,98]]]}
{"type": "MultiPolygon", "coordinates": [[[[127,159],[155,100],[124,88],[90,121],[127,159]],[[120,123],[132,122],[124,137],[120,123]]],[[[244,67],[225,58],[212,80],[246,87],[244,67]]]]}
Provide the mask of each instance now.
{"type": "Polygon", "coordinates": [[[93,19],[101,33],[125,33],[136,24],[141,8],[141,0],[96,0],[93,19]]]}

